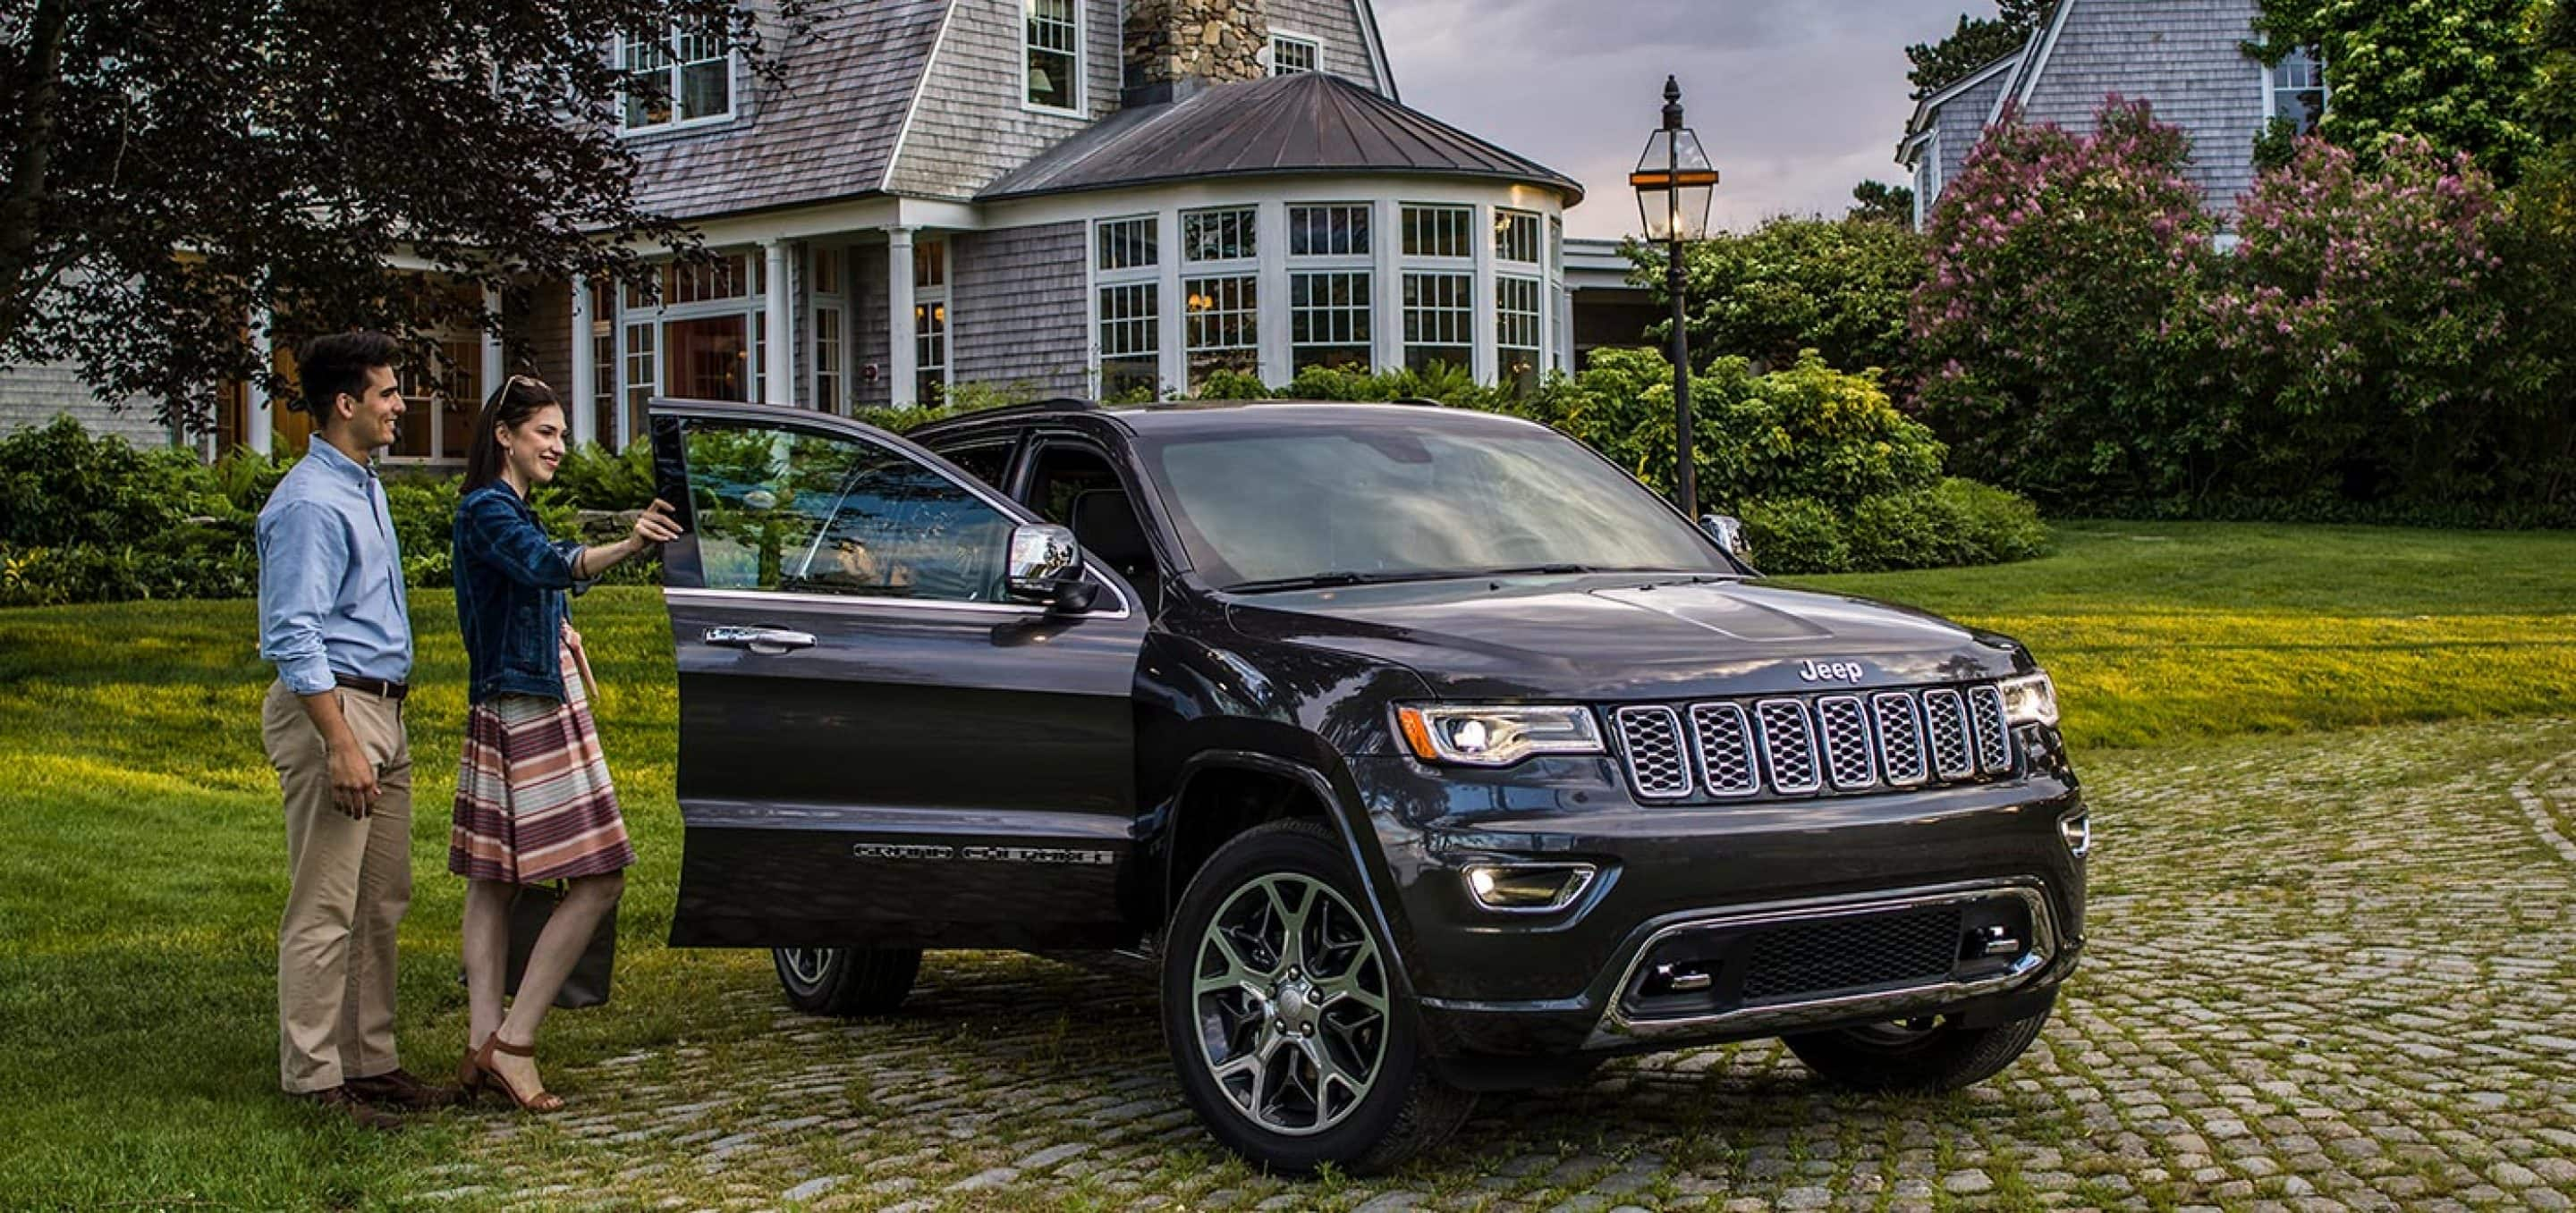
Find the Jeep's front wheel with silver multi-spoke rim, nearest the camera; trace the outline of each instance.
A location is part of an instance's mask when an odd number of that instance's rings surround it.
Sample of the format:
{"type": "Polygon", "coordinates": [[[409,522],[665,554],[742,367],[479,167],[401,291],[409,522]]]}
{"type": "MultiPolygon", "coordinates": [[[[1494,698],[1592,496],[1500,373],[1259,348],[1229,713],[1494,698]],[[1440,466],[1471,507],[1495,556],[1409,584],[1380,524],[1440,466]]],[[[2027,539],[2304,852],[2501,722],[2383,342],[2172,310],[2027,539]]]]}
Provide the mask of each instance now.
{"type": "Polygon", "coordinates": [[[1162,953],[1162,1033],[1198,1120],[1267,1172],[1383,1172],[1476,1107],[1425,1064],[1404,973],[1316,822],[1247,829],[1190,878],[1162,953]]]}

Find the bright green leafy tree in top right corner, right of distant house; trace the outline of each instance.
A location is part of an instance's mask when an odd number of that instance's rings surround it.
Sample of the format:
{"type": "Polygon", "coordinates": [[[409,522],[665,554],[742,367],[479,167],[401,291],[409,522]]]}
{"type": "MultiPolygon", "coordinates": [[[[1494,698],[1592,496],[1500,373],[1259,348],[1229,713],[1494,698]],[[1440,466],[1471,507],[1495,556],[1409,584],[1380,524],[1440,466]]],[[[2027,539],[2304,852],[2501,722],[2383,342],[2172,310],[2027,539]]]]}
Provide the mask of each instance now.
{"type": "Polygon", "coordinates": [[[2254,54],[2313,46],[2334,100],[2318,134],[2378,162],[2403,136],[2468,152],[2499,183],[2540,149],[2527,98],[2548,0],[2262,0],[2254,54]]]}

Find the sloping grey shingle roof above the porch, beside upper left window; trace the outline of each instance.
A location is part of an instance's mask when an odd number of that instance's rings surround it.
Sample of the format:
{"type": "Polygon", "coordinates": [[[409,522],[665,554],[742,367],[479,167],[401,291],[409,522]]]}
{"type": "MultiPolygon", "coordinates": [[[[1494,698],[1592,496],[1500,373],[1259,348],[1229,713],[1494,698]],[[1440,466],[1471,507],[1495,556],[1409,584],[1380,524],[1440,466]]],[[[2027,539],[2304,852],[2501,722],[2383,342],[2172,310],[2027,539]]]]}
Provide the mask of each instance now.
{"type": "Polygon", "coordinates": [[[953,0],[822,0],[778,85],[734,80],[732,126],[636,134],[636,198],[706,219],[878,193],[953,0]]]}

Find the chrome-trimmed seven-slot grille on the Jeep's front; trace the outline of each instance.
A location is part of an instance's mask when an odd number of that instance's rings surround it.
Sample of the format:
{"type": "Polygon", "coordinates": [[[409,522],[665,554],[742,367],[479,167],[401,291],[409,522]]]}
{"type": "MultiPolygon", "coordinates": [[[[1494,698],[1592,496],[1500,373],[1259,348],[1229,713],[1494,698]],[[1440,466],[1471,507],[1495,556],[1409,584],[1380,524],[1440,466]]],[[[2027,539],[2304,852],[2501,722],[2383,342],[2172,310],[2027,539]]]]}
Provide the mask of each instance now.
{"type": "Polygon", "coordinates": [[[1610,713],[1646,801],[1917,788],[2012,773],[2004,693],[1971,688],[1633,703],[1610,713]]]}

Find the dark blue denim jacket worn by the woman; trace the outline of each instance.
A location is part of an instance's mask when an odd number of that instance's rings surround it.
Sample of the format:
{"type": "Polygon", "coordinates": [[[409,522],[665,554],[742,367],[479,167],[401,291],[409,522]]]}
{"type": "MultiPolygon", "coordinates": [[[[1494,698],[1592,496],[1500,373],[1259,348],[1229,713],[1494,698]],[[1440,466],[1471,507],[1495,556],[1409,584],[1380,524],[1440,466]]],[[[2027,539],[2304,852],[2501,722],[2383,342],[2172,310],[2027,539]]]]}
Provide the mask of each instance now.
{"type": "Polygon", "coordinates": [[[580,541],[549,538],[536,510],[505,482],[456,502],[456,626],[466,634],[466,703],[492,695],[564,701],[562,634],[572,608],[580,541]]]}

